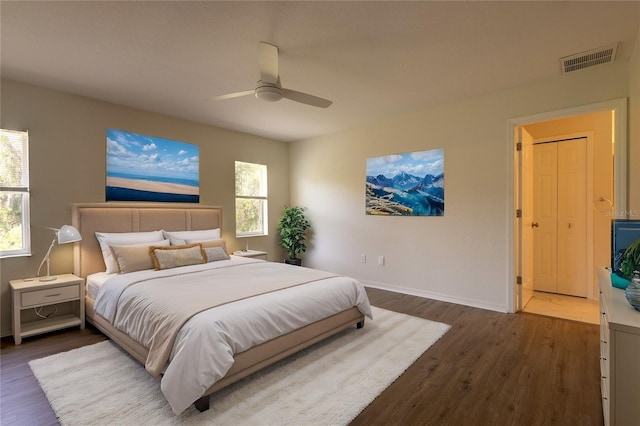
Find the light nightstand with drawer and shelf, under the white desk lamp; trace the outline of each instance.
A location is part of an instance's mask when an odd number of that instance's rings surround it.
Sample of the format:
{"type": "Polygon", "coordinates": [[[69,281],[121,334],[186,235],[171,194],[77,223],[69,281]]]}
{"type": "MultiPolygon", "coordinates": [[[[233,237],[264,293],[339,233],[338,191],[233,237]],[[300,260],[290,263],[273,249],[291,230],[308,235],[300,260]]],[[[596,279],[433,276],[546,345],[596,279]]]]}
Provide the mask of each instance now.
{"type": "Polygon", "coordinates": [[[48,333],[67,327],[84,328],[84,280],[73,274],[56,275],[53,281],[38,281],[38,278],[9,281],[13,299],[11,321],[16,345],[23,337],[48,333]],[[40,306],[74,302],[75,314],[22,322],[22,311],[40,306]]]}

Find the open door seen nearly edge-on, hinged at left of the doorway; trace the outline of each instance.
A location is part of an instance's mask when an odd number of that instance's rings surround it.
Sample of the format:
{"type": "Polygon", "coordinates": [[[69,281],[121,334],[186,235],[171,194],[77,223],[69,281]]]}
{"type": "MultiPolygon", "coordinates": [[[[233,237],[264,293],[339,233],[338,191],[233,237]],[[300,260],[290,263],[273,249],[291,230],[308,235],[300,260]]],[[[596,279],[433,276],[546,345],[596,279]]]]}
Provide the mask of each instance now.
{"type": "Polygon", "coordinates": [[[518,127],[519,196],[518,208],[521,218],[518,222],[518,271],[521,279],[518,286],[516,309],[521,311],[533,297],[533,137],[522,126],[518,127]]]}

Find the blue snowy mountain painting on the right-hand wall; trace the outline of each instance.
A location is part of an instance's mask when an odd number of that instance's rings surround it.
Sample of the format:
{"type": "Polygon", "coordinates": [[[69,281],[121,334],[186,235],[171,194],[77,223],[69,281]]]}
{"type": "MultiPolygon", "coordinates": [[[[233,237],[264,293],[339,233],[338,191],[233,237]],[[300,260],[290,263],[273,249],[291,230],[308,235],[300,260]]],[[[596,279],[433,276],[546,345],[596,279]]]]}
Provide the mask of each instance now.
{"type": "Polygon", "coordinates": [[[382,216],[444,215],[444,149],[367,158],[366,211],[382,216]]]}

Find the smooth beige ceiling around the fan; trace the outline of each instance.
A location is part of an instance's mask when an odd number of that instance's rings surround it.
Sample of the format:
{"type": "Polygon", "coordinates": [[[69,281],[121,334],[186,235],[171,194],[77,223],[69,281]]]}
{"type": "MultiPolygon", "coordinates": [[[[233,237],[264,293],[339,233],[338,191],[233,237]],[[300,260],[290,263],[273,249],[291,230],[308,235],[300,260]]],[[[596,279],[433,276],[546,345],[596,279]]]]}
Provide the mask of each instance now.
{"type": "Polygon", "coordinates": [[[615,42],[626,61],[640,2],[3,0],[0,17],[3,77],[296,141],[558,76],[615,42]],[[333,105],[206,100],[255,87],[259,41],[284,87],[333,105]]]}

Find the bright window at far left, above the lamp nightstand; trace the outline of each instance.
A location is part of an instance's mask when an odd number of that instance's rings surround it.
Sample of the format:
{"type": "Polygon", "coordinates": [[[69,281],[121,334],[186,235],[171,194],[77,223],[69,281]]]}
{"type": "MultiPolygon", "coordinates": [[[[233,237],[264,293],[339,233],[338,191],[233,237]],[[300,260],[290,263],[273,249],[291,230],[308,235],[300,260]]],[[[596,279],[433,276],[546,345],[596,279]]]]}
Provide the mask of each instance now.
{"type": "Polygon", "coordinates": [[[29,134],[0,129],[0,257],[30,254],[29,134]]]}

